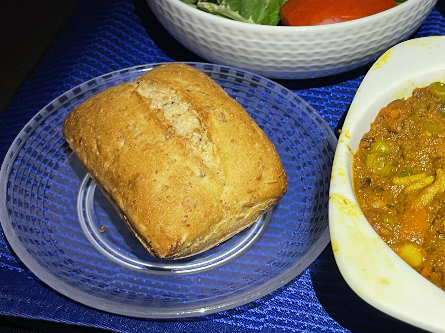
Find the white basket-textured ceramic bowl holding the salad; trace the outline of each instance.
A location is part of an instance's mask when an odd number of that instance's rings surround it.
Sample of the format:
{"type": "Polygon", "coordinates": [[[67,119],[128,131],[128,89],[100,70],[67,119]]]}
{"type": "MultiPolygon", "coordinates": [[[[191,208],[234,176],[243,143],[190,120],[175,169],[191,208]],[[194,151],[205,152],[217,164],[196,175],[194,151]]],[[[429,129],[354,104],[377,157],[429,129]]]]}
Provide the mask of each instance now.
{"type": "Polygon", "coordinates": [[[147,0],[168,32],[198,56],[275,79],[348,71],[407,39],[437,0],[408,0],[348,22],[284,27],[249,24],[202,12],[180,0],[147,0]]]}

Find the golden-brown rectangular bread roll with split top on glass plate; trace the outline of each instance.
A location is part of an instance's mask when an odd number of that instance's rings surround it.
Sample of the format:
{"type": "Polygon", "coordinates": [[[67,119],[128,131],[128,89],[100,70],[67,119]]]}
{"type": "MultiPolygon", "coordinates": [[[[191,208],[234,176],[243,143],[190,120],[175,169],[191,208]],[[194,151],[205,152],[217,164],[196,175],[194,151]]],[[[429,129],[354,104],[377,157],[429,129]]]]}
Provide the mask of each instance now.
{"type": "Polygon", "coordinates": [[[169,63],[77,106],[63,134],[157,258],[184,258],[250,226],[286,192],[247,112],[194,67],[169,63]]]}

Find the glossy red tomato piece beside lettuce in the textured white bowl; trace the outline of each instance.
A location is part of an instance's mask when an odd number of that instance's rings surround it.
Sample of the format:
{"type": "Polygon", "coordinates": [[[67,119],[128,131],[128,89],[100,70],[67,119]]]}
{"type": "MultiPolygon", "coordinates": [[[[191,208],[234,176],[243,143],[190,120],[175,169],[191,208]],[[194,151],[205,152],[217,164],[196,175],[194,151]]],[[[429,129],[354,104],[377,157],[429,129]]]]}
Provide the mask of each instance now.
{"type": "Polygon", "coordinates": [[[395,6],[394,0],[288,0],[280,12],[284,25],[303,26],[355,20],[395,6]]]}

